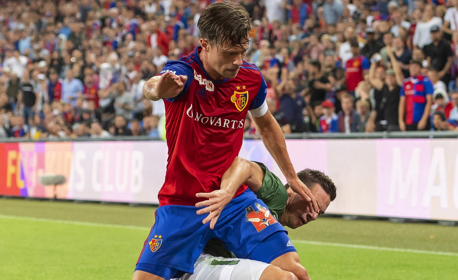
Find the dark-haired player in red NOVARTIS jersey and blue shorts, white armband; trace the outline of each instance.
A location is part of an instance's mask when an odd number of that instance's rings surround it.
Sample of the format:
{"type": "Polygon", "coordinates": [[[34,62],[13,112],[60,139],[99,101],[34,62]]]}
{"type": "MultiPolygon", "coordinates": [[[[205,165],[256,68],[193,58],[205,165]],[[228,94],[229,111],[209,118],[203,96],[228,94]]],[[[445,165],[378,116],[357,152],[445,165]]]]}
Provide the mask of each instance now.
{"type": "Polygon", "coordinates": [[[198,27],[201,46],[168,61],[143,87],[147,98],[164,99],[169,157],[156,221],[134,279],[169,280],[192,273],[211,238],[222,240],[237,257],[270,263],[298,279],[309,279],[284,227],[271,214],[265,217],[267,222],[252,222],[262,220],[259,207],[267,206],[245,185],[234,188],[221,182],[240,151],[250,111],[291,189],[319,211],[294,172],[282,131],[267,110],[261,72],[243,60],[249,48],[250,17],[238,4],[215,2],[202,11],[198,27]],[[198,193],[206,194],[197,197],[198,193]],[[221,203],[203,210],[209,205],[207,198],[215,195],[221,203]],[[199,215],[207,212],[202,222],[199,215]]]}

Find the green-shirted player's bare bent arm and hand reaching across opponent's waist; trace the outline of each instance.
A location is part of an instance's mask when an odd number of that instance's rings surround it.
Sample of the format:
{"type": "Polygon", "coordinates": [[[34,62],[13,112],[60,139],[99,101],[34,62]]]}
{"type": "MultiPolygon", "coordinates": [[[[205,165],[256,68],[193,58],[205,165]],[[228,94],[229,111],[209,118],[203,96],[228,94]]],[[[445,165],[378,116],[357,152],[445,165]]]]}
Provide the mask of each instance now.
{"type": "Polygon", "coordinates": [[[198,193],[196,197],[205,197],[208,200],[196,203],[196,207],[208,206],[197,210],[197,214],[210,213],[202,222],[210,221],[210,228],[213,229],[221,211],[234,197],[237,189],[242,184],[247,184],[252,191],[257,191],[262,186],[264,172],[254,162],[241,157],[236,157],[221,179],[221,188],[211,193],[198,193]]]}

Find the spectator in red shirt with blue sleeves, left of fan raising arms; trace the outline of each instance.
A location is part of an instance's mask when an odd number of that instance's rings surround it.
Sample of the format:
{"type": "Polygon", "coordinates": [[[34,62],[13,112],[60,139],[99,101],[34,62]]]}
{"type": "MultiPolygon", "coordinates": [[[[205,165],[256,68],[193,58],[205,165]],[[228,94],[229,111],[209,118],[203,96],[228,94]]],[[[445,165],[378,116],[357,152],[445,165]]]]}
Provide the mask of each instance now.
{"type": "Polygon", "coordinates": [[[352,40],[350,42],[351,53],[353,58],[347,60],[345,66],[345,73],[347,74],[347,90],[348,93],[354,96],[354,90],[360,81],[364,80],[364,74],[369,70],[369,60],[360,55],[360,45],[358,41],[352,40]]]}

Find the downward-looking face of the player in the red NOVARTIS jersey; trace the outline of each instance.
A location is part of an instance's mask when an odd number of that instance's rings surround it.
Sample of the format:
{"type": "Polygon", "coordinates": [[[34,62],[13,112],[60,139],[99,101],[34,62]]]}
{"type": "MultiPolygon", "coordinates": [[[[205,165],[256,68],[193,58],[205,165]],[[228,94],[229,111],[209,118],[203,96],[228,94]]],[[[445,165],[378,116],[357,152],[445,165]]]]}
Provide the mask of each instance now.
{"type": "Polygon", "coordinates": [[[207,52],[207,65],[210,67],[210,75],[215,80],[233,79],[239,73],[240,66],[246,55],[246,50],[250,47],[248,43],[240,46],[230,47],[226,44],[216,48],[215,44],[209,44],[207,40],[201,39],[202,51],[207,52]]]}

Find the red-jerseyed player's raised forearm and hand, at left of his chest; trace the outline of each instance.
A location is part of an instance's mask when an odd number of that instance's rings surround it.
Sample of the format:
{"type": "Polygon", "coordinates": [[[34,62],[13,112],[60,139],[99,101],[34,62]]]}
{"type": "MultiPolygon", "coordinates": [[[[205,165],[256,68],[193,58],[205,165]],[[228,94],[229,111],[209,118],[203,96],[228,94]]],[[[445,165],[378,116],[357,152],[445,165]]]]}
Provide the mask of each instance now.
{"type": "Polygon", "coordinates": [[[154,76],[143,85],[143,94],[150,100],[176,97],[183,90],[186,75],[175,75],[165,72],[163,75],[154,76]]]}

